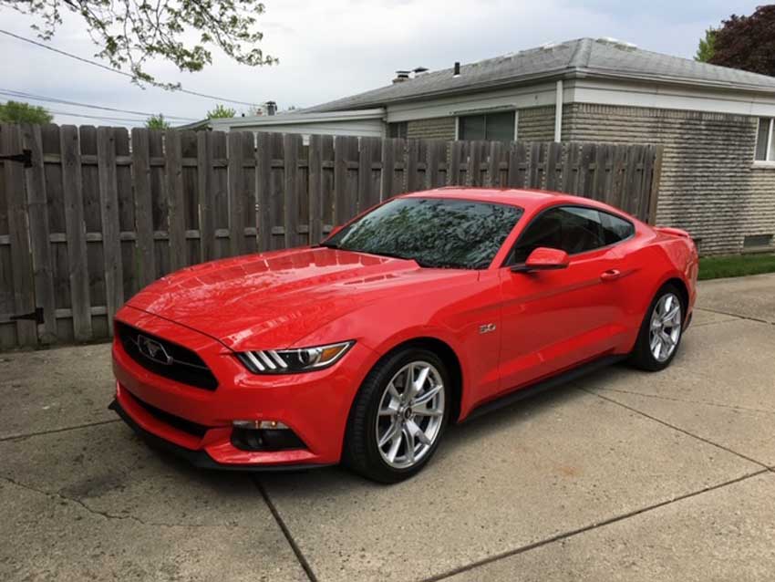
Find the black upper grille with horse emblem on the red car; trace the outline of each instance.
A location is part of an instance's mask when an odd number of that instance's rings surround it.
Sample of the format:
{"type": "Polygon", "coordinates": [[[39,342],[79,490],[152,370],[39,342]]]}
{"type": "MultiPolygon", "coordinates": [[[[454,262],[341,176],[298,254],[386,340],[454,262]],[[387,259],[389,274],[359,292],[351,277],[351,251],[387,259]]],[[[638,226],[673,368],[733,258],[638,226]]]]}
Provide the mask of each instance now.
{"type": "Polygon", "coordinates": [[[218,388],[212,371],[191,349],[120,321],[116,322],[116,334],[129,357],[154,374],[205,390],[218,388]]]}

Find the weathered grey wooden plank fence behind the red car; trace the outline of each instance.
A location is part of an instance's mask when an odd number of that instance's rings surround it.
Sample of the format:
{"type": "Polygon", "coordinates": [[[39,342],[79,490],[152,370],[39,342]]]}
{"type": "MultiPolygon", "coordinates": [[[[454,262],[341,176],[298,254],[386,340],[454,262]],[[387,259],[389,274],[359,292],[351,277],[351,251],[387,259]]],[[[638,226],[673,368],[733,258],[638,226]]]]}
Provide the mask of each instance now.
{"type": "Polygon", "coordinates": [[[0,156],[19,156],[0,161],[0,348],[14,348],[109,338],[116,310],[161,275],[315,244],[400,192],[544,188],[653,219],[661,152],[0,125],[0,156]]]}

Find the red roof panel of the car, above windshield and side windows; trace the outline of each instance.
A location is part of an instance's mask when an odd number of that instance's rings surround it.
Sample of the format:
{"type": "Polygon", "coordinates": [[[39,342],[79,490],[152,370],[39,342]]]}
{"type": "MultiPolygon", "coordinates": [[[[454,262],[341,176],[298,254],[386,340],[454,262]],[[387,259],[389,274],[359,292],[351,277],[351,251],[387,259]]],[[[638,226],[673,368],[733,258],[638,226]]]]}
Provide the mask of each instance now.
{"type": "Polygon", "coordinates": [[[519,206],[526,212],[543,208],[553,204],[587,204],[603,210],[611,210],[617,213],[615,208],[604,203],[598,203],[589,198],[573,196],[563,192],[549,192],[546,190],[531,190],[522,188],[470,188],[466,186],[447,186],[422,192],[402,194],[401,198],[457,198],[460,200],[473,200],[483,203],[501,203],[519,206]]]}

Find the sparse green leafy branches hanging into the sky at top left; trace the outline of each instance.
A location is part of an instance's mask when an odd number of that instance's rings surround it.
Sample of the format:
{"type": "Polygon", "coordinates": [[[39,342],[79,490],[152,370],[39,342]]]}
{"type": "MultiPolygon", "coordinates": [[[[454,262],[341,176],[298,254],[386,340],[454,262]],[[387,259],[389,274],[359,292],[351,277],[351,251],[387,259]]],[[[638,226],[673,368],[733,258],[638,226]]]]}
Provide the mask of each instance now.
{"type": "Polygon", "coordinates": [[[179,88],[180,83],[156,81],[146,61],[160,57],[181,71],[201,71],[212,64],[212,47],[250,67],[277,62],[257,47],[263,38],[255,29],[263,14],[259,0],[0,0],[0,5],[31,16],[44,40],[54,36],[66,11],[78,16],[100,47],[96,56],[128,70],[138,84],[179,88]]]}

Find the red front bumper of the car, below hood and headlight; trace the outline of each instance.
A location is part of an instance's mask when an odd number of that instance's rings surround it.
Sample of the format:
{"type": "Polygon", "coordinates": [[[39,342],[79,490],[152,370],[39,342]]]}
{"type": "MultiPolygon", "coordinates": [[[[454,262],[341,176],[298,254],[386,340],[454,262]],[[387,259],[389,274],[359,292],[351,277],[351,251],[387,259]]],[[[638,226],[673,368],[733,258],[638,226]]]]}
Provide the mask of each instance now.
{"type": "Polygon", "coordinates": [[[220,342],[188,327],[132,307],[123,307],[117,319],[195,351],[218,379],[217,389],[203,390],[164,378],[140,366],[115,338],[111,408],[142,436],[208,468],[290,469],[339,462],[350,405],[371,363],[368,348],[356,344],[329,369],[261,376],[244,369],[220,342]],[[237,448],[232,442],[236,420],[281,421],[305,447],[237,448]]]}

